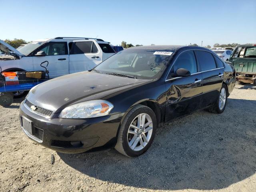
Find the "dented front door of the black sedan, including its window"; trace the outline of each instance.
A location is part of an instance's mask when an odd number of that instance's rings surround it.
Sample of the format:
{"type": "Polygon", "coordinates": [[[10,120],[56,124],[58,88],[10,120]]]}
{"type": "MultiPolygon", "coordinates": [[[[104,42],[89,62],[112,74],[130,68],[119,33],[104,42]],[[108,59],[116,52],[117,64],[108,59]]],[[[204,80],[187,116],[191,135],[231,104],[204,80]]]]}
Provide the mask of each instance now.
{"type": "Polygon", "coordinates": [[[166,121],[190,114],[200,107],[202,74],[198,73],[194,51],[184,51],[178,56],[166,80],[166,90],[166,121]],[[172,77],[179,68],[187,69],[191,75],[172,77]]]}

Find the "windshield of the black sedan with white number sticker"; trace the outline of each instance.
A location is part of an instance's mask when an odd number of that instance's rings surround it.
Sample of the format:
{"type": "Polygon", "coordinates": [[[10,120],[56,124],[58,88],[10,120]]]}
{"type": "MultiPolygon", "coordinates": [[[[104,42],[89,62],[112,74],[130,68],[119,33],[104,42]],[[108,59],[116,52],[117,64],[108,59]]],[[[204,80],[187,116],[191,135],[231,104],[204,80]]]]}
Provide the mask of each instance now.
{"type": "Polygon", "coordinates": [[[108,58],[94,70],[105,74],[155,79],[162,75],[173,52],[172,50],[126,49],[108,58]]]}

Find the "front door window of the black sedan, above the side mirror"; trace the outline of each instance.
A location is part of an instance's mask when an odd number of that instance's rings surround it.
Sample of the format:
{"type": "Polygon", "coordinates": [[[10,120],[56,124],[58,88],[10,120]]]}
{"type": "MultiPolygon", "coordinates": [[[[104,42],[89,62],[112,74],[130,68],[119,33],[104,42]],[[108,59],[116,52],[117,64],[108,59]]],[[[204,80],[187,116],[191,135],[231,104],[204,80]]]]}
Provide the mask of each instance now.
{"type": "Polygon", "coordinates": [[[185,51],[178,56],[177,60],[172,66],[168,78],[171,78],[172,74],[174,74],[179,68],[184,68],[191,74],[197,72],[196,58],[193,51],[185,51]]]}

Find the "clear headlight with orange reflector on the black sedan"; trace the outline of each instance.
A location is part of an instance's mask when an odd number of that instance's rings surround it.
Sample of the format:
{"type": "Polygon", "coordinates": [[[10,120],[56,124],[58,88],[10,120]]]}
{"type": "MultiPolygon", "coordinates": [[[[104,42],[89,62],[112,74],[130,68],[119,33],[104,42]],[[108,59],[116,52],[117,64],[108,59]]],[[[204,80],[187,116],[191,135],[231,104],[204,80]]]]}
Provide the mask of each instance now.
{"type": "Polygon", "coordinates": [[[91,100],[70,105],[59,115],[59,118],[80,119],[106,116],[114,106],[105,100],[91,100]]]}

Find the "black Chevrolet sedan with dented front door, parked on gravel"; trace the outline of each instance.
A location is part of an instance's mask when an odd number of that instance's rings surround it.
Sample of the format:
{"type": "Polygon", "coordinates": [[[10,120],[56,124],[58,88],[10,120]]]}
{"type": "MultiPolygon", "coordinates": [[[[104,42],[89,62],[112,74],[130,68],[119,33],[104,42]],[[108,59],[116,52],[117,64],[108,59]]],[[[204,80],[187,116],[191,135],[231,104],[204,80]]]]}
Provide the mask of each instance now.
{"type": "Polygon", "coordinates": [[[222,113],[234,85],[234,68],[206,48],[134,47],[35,86],[20,122],[30,139],[59,152],[115,147],[135,157],[162,123],[199,109],[222,113]]]}

